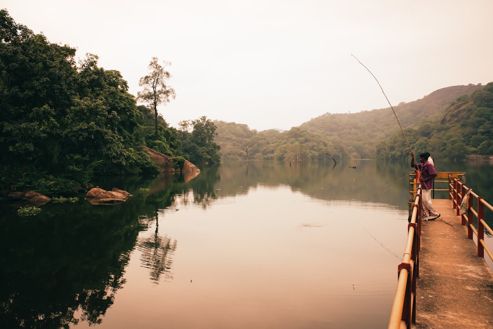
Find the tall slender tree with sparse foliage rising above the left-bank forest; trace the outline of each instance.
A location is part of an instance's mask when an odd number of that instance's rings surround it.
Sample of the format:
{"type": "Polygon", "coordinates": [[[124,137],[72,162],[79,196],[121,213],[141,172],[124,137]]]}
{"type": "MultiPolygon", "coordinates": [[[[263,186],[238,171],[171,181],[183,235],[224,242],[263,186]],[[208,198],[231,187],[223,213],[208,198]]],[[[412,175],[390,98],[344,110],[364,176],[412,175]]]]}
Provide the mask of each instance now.
{"type": "Polygon", "coordinates": [[[175,99],[175,89],[167,85],[171,74],[164,68],[171,63],[163,62],[164,66],[158,63],[157,57],[152,57],[149,63],[148,73],[139,80],[139,86],[144,89],[137,93],[139,100],[145,102],[154,109],[154,121],[156,128],[156,140],[159,138],[157,131],[157,106],[161,103],[169,103],[170,98],[175,99]]]}

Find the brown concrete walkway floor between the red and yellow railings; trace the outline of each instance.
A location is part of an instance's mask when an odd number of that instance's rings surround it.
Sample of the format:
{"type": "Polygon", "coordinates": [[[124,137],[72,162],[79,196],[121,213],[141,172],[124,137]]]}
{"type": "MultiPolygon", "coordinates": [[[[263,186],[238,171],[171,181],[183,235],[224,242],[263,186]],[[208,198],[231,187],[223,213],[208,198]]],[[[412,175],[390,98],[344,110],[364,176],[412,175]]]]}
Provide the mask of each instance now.
{"type": "Polygon", "coordinates": [[[411,328],[493,328],[492,271],[467,239],[452,201],[432,202],[441,217],[423,221],[416,325],[411,328]]]}

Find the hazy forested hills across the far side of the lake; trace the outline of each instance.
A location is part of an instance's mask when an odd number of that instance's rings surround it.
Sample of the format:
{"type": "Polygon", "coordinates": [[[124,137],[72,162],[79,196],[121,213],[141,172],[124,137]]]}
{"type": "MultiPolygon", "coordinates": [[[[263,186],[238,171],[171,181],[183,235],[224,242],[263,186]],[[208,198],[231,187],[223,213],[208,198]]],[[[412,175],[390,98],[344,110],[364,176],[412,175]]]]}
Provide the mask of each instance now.
{"type": "Polygon", "coordinates": [[[493,83],[442,88],[387,109],[325,113],[289,131],[258,132],[214,121],[222,159],[307,160],[379,158],[395,161],[416,152],[463,159],[493,154],[493,83]],[[399,121],[397,121],[396,117],[399,121]],[[399,124],[404,130],[402,133],[399,124]],[[406,138],[404,138],[404,135],[406,138]]]}

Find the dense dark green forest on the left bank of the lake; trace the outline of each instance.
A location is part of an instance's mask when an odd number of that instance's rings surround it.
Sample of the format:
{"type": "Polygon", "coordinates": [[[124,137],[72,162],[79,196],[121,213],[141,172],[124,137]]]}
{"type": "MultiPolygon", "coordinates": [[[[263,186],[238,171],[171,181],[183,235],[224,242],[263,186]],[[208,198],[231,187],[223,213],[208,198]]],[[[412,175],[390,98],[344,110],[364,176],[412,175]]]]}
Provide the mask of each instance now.
{"type": "Polygon", "coordinates": [[[218,163],[215,125],[207,117],[169,127],[137,106],[127,81],[98,67],[98,56],[75,63],[75,49],[50,43],[0,10],[0,188],[70,194],[98,175],[155,174],[144,146],[179,168],[218,163]]]}

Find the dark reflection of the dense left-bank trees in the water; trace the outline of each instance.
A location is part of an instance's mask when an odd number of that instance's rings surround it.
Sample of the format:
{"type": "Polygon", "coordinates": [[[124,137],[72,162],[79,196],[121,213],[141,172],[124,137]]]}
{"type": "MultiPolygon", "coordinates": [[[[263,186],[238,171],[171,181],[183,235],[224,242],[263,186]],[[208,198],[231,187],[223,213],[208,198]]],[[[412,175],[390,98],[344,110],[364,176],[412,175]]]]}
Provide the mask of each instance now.
{"type": "Polygon", "coordinates": [[[48,204],[35,218],[4,211],[0,327],[101,323],[126,282],[124,269],[139,233],[133,214],[121,210],[79,202],[48,204]]]}

